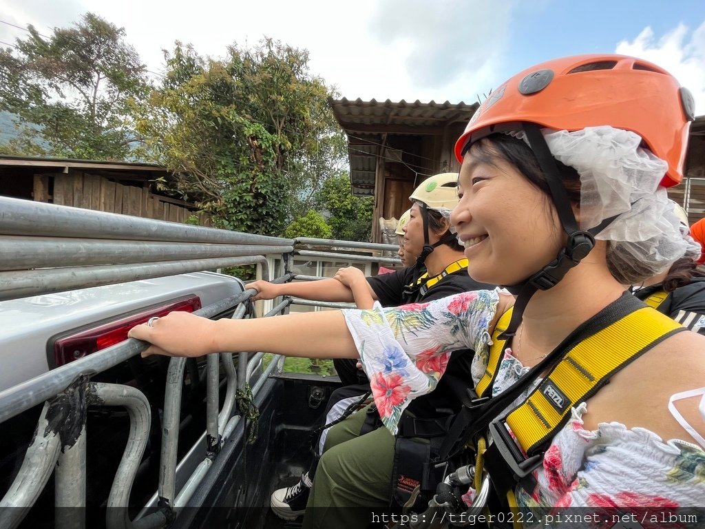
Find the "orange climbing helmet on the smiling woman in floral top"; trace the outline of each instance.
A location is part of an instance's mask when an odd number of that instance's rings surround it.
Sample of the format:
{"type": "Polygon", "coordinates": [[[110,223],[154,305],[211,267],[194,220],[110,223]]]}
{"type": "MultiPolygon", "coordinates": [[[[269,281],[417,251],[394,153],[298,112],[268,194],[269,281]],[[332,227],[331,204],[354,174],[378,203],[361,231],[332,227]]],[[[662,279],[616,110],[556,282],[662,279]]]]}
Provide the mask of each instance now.
{"type": "Polygon", "coordinates": [[[537,123],[556,130],[612,126],[637,133],[668,163],[661,186],[682,181],[694,99],[667,71],[623,55],[578,55],[528,68],[492,92],[455,143],[465,147],[494,132],[537,123]]]}

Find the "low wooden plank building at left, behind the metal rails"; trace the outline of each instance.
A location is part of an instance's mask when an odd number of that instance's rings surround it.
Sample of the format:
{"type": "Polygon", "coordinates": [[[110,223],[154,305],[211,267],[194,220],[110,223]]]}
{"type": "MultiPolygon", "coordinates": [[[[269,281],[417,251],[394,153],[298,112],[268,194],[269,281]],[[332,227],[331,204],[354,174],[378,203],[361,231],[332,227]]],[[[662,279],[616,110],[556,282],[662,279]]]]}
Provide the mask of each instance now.
{"type": "Polygon", "coordinates": [[[159,191],[157,178],[171,173],[152,164],[0,157],[0,195],[173,222],[195,215],[211,225],[192,203],[159,191]]]}

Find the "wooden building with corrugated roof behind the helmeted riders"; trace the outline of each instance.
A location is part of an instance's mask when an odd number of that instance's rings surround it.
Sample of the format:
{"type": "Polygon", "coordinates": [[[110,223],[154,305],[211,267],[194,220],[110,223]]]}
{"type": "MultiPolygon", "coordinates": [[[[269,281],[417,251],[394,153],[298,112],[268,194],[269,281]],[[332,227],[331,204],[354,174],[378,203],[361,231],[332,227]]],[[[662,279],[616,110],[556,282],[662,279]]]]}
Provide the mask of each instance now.
{"type": "MultiPolygon", "coordinates": [[[[433,174],[458,171],[453,147],[479,104],[398,103],[329,99],[348,135],[353,195],[374,196],[372,241],[378,219],[399,218],[415,186],[433,174]]],[[[685,207],[690,224],[705,217],[705,116],[696,118],[683,183],[668,191],[685,207]]]]}

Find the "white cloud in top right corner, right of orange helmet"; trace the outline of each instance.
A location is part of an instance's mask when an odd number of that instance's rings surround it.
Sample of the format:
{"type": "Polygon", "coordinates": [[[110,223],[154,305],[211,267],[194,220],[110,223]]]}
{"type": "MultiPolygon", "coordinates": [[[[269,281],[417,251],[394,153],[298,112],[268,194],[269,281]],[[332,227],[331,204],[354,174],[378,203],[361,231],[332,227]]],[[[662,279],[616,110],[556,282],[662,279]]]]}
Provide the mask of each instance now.
{"type": "Polygon", "coordinates": [[[617,44],[616,53],[632,55],[658,64],[675,75],[695,99],[695,114],[705,114],[705,22],[690,32],[684,24],[656,39],[644,28],[632,41],[617,44]]]}

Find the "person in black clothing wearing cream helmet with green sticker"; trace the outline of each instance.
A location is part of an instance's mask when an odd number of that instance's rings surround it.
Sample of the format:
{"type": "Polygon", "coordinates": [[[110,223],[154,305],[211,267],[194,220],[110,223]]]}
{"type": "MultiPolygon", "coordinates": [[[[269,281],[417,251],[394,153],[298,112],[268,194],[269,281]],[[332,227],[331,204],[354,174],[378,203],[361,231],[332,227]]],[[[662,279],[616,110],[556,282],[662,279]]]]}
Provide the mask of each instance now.
{"type": "MultiPolygon", "coordinates": [[[[423,181],[410,196],[414,203],[410,210],[410,219],[403,226],[403,247],[405,253],[419,256],[412,267],[367,278],[359,269],[349,267],[339,270],[334,279],[282,285],[256,281],[249,284],[248,288],[257,288],[259,291],[255,299],[289,294],[326,301],[355,300],[358,308],[372,308],[374,301],[378,301],[383,307],[396,307],[467,291],[494,288],[474,281],[467,274],[467,259],[450,230],[448,217],[450,209],[458,203],[457,185],[456,174],[439,174],[423,181]],[[347,297],[343,297],[341,286],[347,291],[347,297]],[[337,298],[332,299],[331,296],[337,298]]],[[[467,391],[468,381],[472,380],[471,362],[472,351],[453,353],[446,375],[436,389],[412,401],[408,414],[415,418],[432,420],[447,418],[457,413],[461,399],[467,391]]],[[[357,360],[336,359],[333,360],[333,365],[346,389],[342,393],[341,390],[336,390],[331,395],[329,409],[343,396],[362,396],[369,391],[369,379],[357,367],[357,360]]],[[[277,516],[293,519],[304,513],[316,465],[317,461],[314,461],[297,484],[274,491],[271,496],[271,508],[277,516]]]]}

